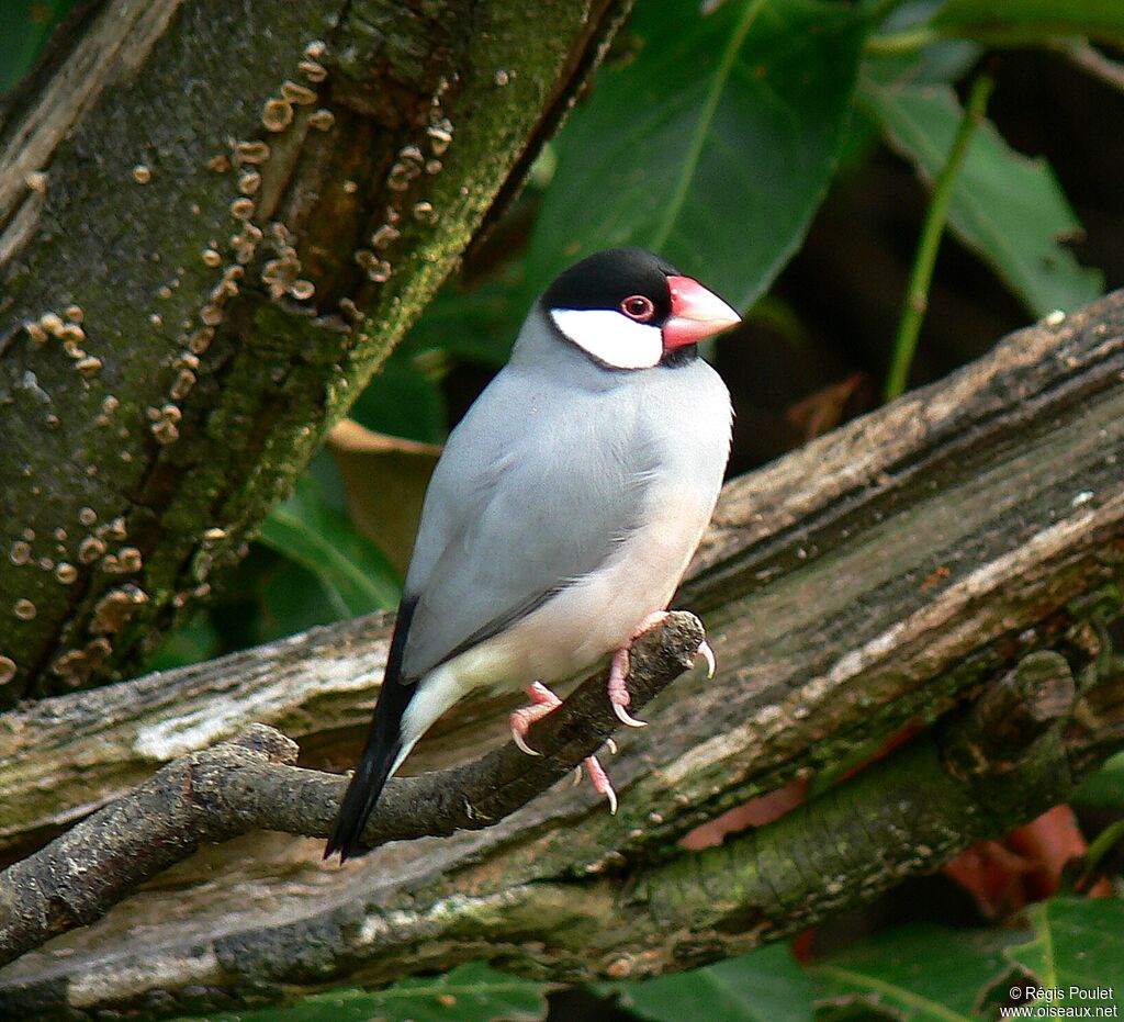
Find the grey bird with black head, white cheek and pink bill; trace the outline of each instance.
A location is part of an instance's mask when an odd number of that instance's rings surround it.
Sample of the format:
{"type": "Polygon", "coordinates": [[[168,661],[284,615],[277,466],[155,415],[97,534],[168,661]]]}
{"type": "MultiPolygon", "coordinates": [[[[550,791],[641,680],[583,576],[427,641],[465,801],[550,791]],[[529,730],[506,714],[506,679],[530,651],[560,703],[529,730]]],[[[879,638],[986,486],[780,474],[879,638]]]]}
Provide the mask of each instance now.
{"type": "MultiPolygon", "coordinates": [[[[698,342],[738,323],[642,248],[562,273],[510,361],[448,437],[422,512],[374,718],[325,858],[361,850],[387,779],[450,706],[527,686],[515,740],[559,699],[544,681],[627,649],[664,612],[714,510],[732,409],[698,342]]],[[[704,651],[709,659],[709,649],[704,651]]],[[[616,796],[596,759],[595,787],[616,796]]]]}

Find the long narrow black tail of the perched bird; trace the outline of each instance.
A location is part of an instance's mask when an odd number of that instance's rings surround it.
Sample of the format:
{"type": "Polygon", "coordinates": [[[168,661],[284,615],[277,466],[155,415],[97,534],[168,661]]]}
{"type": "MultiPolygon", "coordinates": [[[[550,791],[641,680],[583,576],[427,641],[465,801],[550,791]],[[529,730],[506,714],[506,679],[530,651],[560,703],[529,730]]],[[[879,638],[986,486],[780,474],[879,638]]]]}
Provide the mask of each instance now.
{"type": "Polygon", "coordinates": [[[365,850],[362,842],[363,827],[379,802],[387,779],[402,750],[401,721],[406,707],[417,691],[417,685],[402,680],[402,653],[406,651],[406,633],[410,627],[417,599],[404,599],[395,621],[395,634],[390,640],[387,657],[387,672],[379,690],[379,702],[374,705],[374,718],[366,735],[366,745],[360,758],[355,774],[344,792],[336,825],[332,829],[324,858],[339,852],[339,861],[365,850]]]}

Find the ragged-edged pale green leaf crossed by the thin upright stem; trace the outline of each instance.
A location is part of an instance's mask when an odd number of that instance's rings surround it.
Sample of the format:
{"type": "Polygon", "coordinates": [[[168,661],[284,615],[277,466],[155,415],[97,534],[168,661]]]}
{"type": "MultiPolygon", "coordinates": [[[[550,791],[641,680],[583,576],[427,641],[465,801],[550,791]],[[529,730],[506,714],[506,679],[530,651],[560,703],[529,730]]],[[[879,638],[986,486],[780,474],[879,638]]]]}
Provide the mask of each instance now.
{"type": "MultiPolygon", "coordinates": [[[[862,103],[889,144],[926,180],[944,165],[961,108],[945,85],[888,85],[864,80],[862,103]]],[[[1076,309],[1098,297],[1102,275],[1080,266],[1060,238],[1081,225],[1043,160],[1012,150],[990,123],[980,125],[949,207],[949,227],[999,274],[1036,316],[1076,309]]]]}

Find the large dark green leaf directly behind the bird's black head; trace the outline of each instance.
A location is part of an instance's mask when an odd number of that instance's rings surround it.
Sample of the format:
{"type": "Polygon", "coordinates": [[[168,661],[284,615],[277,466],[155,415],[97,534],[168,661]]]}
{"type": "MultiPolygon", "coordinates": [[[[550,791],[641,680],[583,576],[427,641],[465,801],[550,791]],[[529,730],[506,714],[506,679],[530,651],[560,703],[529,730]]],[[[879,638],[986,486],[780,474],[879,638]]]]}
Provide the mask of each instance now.
{"type": "Polygon", "coordinates": [[[796,251],[845,137],[868,25],[817,0],[646,0],[626,66],[558,139],[527,260],[544,287],[616,245],[661,252],[746,308],[796,251]]]}

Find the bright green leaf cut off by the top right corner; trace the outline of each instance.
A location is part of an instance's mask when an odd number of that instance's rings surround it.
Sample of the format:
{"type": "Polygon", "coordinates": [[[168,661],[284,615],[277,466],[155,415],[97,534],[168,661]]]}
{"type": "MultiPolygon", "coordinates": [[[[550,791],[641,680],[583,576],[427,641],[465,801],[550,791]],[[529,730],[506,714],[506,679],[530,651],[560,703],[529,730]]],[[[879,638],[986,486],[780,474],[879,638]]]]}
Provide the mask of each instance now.
{"type": "Polygon", "coordinates": [[[1035,43],[1057,36],[1089,36],[1124,45],[1121,0],[949,0],[930,27],[939,31],[1035,43]]]}

